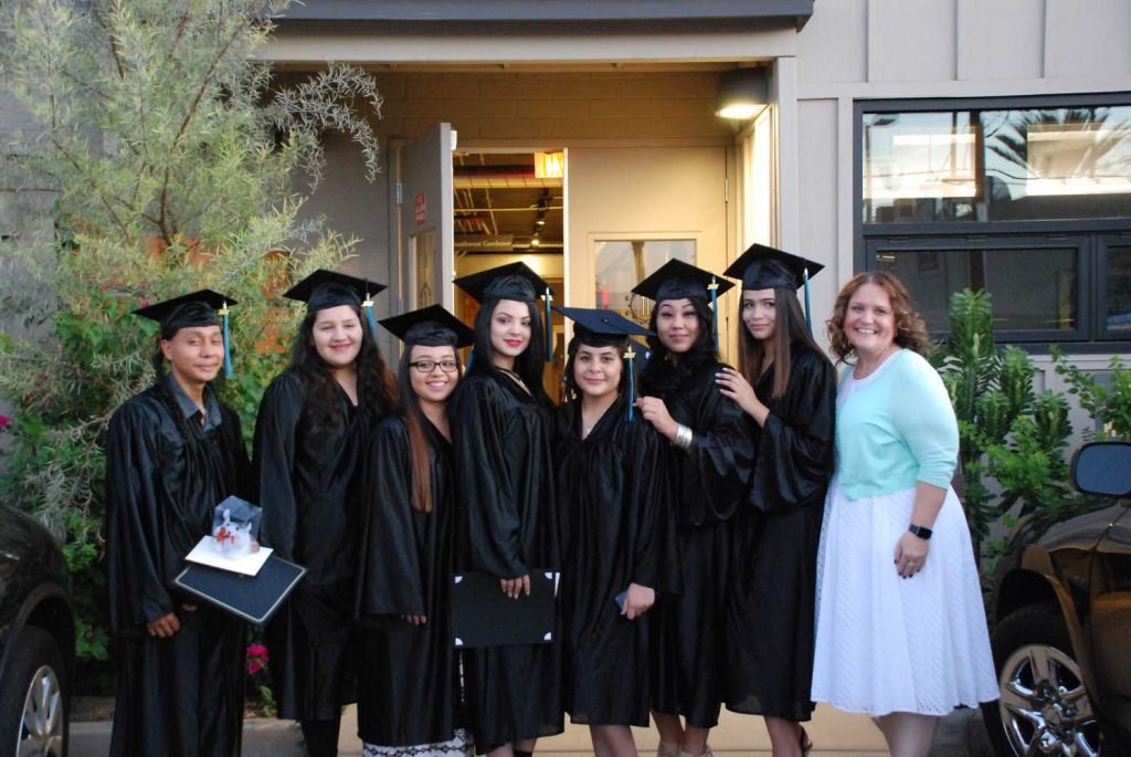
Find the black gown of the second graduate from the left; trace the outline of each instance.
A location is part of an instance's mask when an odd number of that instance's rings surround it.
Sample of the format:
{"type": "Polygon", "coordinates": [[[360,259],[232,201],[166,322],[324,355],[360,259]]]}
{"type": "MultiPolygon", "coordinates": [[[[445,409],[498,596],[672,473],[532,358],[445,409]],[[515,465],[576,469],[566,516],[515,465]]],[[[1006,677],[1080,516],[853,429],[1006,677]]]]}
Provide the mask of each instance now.
{"type": "Polygon", "coordinates": [[[302,379],[271,381],[256,419],[264,542],[307,575],[267,625],[278,717],[334,720],[356,698],[349,660],[357,508],[354,472],[368,414],[338,389],[344,422],[314,433],[302,379]]]}

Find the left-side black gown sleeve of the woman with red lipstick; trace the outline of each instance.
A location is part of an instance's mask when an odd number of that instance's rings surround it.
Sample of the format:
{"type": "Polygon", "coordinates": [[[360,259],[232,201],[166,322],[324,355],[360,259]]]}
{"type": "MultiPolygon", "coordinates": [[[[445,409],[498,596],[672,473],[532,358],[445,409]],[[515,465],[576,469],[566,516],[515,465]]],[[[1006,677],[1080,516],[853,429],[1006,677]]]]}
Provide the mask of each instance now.
{"type": "MultiPolygon", "coordinates": [[[[500,578],[529,573],[523,554],[516,476],[510,461],[532,439],[510,438],[506,390],[490,379],[468,380],[457,405],[456,471],[463,499],[470,565],[500,578]]],[[[541,566],[539,566],[541,567],[541,566]]]]}

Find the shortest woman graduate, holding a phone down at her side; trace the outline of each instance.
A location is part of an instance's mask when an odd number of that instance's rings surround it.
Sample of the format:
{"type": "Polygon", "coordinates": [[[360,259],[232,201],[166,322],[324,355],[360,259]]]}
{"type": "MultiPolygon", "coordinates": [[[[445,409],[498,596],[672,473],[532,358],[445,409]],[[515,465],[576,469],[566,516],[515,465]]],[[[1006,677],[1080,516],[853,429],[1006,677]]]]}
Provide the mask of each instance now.
{"type": "Polygon", "coordinates": [[[666,446],[632,406],[645,328],[611,310],[558,308],[573,319],[569,398],[555,412],[562,537],[566,712],[589,725],[594,752],[634,757],[631,725],[648,726],[648,610],[677,582],[659,467],[666,446]]]}

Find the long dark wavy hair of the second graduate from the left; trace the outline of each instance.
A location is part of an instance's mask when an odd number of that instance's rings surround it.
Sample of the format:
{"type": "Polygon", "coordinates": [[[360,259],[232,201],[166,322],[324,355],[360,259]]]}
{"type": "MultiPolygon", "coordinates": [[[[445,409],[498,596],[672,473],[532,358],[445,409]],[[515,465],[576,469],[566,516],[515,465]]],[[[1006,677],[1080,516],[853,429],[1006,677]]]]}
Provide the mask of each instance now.
{"type": "MultiPolygon", "coordinates": [[[[361,324],[361,350],[354,364],[357,368],[357,404],[374,416],[385,415],[397,406],[397,381],[385,364],[385,358],[365,322],[365,315],[354,304],[347,306],[361,324]]],[[[319,356],[314,346],[314,320],[319,310],[307,313],[299,326],[291,347],[291,370],[302,380],[307,399],[307,416],[314,433],[327,433],[342,428],[342,403],[337,381],[319,356]]]]}

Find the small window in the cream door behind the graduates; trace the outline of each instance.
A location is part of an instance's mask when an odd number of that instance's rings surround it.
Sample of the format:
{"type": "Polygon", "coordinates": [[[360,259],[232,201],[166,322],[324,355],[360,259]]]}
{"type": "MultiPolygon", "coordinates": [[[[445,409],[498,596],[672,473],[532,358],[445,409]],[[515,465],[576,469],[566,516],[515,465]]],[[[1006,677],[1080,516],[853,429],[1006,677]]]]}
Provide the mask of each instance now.
{"type": "Polygon", "coordinates": [[[647,325],[651,300],[636,296],[632,289],[668,260],[696,264],[696,241],[608,240],[597,242],[596,307],[615,310],[647,325]]]}

